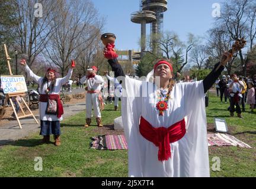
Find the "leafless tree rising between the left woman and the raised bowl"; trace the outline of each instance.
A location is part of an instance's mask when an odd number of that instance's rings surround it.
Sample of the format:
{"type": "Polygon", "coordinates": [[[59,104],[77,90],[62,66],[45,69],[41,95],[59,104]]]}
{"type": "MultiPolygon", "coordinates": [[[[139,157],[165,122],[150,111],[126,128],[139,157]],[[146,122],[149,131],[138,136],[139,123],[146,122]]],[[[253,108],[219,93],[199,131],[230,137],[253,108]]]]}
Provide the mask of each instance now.
{"type": "Polygon", "coordinates": [[[53,30],[46,57],[60,70],[62,76],[71,59],[79,57],[98,37],[102,27],[97,10],[89,0],[57,0],[58,8],[52,13],[53,30]],[[97,28],[97,30],[95,30],[97,28]]]}

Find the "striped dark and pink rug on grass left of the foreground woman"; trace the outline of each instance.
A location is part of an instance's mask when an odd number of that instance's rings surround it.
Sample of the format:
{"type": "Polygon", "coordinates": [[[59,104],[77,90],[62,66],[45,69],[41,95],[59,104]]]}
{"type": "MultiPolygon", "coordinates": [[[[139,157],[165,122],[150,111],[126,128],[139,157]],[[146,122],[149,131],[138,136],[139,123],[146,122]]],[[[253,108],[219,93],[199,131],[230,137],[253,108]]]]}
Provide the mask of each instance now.
{"type": "Polygon", "coordinates": [[[124,135],[99,135],[91,138],[94,149],[128,149],[124,135]]]}

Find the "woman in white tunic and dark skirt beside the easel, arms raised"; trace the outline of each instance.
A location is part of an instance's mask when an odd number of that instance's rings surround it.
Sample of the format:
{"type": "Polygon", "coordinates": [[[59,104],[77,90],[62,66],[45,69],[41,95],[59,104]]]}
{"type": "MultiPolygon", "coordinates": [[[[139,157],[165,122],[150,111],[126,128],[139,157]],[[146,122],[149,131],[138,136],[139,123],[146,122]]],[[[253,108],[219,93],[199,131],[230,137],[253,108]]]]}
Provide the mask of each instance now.
{"type": "Polygon", "coordinates": [[[44,77],[37,76],[27,66],[23,59],[20,62],[25,67],[28,77],[39,84],[39,111],[40,111],[40,135],[43,135],[43,143],[50,142],[50,135],[54,136],[55,145],[60,145],[60,120],[62,120],[63,106],[59,92],[63,84],[71,79],[75,64],[71,64],[68,74],[63,78],[56,78],[56,71],[49,68],[44,77]]]}

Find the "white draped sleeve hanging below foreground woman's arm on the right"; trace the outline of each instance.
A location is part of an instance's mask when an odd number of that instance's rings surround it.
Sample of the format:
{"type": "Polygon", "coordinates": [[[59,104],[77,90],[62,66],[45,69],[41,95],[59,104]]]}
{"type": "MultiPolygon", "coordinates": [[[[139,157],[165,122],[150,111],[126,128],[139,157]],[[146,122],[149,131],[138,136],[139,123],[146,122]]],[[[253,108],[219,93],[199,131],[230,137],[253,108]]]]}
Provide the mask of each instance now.
{"type": "Polygon", "coordinates": [[[190,177],[209,177],[206,108],[203,81],[183,83],[185,115],[187,116],[190,177]]]}

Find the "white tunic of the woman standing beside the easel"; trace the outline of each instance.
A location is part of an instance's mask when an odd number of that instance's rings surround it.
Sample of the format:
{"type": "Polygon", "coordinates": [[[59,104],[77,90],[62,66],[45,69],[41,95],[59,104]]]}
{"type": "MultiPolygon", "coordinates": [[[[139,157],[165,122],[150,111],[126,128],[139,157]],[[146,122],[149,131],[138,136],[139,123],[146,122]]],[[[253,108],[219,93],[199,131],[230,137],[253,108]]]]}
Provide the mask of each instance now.
{"type": "MultiPolygon", "coordinates": [[[[41,87],[43,78],[37,76],[36,74],[33,73],[33,71],[30,70],[28,66],[25,66],[25,71],[28,74],[28,77],[34,80],[34,82],[39,84],[39,93],[40,94],[46,94],[45,90],[47,89],[47,84],[45,83],[43,87],[41,87]]],[[[50,94],[59,94],[60,89],[63,84],[67,83],[69,79],[72,76],[72,71],[73,69],[69,69],[68,74],[65,77],[62,78],[57,78],[56,79],[56,84],[55,87],[53,88],[53,91],[50,94]]],[[[48,86],[50,86],[50,82],[48,82],[48,86]]],[[[40,120],[49,120],[49,121],[56,121],[56,120],[62,120],[62,116],[60,118],[57,118],[57,115],[46,115],[46,107],[47,107],[47,102],[40,102],[39,103],[39,112],[40,112],[40,120]]]]}

